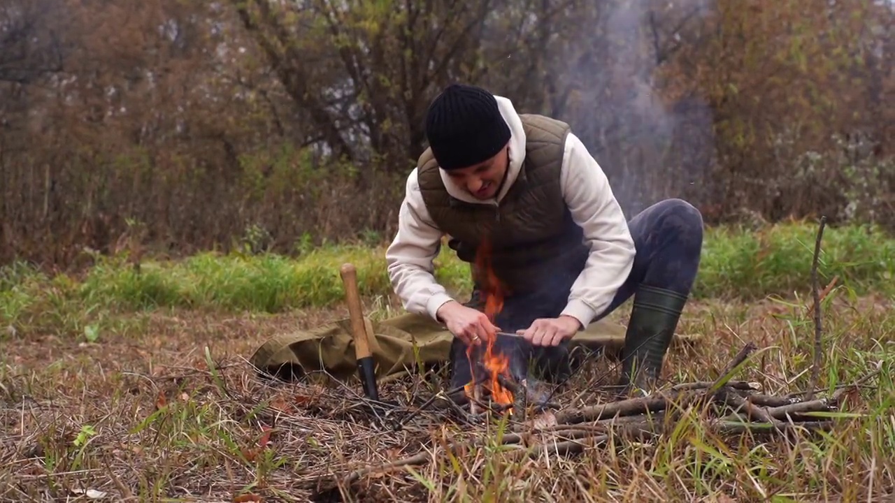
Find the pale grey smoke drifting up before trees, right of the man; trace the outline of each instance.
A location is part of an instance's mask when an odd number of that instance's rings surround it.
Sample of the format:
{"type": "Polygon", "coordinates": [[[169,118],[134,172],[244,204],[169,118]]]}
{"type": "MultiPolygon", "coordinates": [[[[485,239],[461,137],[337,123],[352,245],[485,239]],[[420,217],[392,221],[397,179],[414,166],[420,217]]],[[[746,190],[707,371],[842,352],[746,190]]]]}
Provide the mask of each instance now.
{"type": "Polygon", "coordinates": [[[629,216],[656,200],[702,192],[712,163],[711,110],[697,96],[669,102],[657,70],[686,46],[684,38],[712,6],[713,0],[601,3],[595,56],[575,69],[586,75],[581,81],[592,104],[578,123],[629,216]]]}

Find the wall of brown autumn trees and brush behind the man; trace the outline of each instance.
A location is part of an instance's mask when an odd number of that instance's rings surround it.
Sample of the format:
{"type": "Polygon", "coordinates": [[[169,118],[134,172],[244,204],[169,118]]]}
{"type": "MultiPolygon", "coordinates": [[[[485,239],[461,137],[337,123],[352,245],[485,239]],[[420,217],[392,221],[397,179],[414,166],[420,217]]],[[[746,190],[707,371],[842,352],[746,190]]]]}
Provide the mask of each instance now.
{"type": "Polygon", "coordinates": [[[0,260],[388,239],[426,107],[567,121],[630,215],[892,216],[891,2],[7,0],[0,260]]]}

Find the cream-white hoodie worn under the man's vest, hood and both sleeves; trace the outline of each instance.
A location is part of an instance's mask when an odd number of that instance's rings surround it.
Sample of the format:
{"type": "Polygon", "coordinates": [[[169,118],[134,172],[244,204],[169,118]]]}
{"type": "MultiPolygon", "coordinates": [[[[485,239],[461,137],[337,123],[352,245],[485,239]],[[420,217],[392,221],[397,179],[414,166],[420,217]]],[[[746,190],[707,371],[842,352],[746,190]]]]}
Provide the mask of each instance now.
{"type": "MultiPolygon", "coordinates": [[[[495,200],[477,200],[462,187],[453,183],[441,171],[447,192],[458,200],[494,205],[507,194],[525,158],[525,133],[522,120],[507,98],[496,96],[500,114],[509,125],[509,166],[507,182],[495,200]]],[[[395,240],[386,251],[388,277],[401,298],[405,310],[428,314],[438,320],[436,312],[452,299],[433,275],[433,260],[438,256],[444,235],[431,220],[422,200],[417,170],[407,176],[406,193],[398,213],[395,240]]],[[[584,229],[584,243],[591,254],[584,270],[575,280],[568,304],[561,314],[567,314],[586,327],[604,311],[618,288],[625,282],[634,265],[634,239],[628,231],[625,215],[609,187],[609,180],[584,143],[571,132],[567,135],[560,183],[575,223],[584,229]]]]}

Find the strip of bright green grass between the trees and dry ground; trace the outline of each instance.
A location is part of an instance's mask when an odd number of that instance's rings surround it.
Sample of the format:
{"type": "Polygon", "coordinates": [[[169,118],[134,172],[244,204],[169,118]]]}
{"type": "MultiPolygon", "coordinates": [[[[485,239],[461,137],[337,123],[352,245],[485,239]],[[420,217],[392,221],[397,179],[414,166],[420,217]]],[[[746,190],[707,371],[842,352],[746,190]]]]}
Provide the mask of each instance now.
{"type": "MultiPolygon", "coordinates": [[[[805,293],[810,286],[816,227],[795,223],[759,230],[706,231],[695,298],[750,300],[805,293]]],[[[155,308],[281,312],[327,307],[344,297],[339,266],[352,262],[362,295],[388,295],[385,247],[329,246],[288,258],[272,254],[201,253],[184,260],[143,261],[139,272],[124,256],[100,257],[81,277],[47,277],[21,264],[0,270],[0,325],[12,331],[64,327],[90,332],[100,314],[155,308]]],[[[468,266],[444,247],[436,276],[455,294],[470,287],[468,266]]],[[[862,226],[828,227],[820,274],[825,285],[857,294],[891,294],[895,239],[862,226]]],[[[100,320],[99,322],[105,323],[100,320]]]]}

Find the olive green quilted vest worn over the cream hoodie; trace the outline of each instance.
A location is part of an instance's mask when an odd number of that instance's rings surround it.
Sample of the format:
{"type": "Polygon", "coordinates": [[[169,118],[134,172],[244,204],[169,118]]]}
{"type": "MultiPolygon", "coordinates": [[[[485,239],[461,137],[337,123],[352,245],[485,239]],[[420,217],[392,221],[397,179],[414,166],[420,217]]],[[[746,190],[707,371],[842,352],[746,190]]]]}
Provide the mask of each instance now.
{"type": "Polygon", "coordinates": [[[448,194],[430,149],[417,165],[422,200],[435,225],[452,238],[451,248],[460,260],[474,263],[488,237],[492,267],[510,293],[532,292],[557,274],[577,275],[589,252],[559,182],[569,125],[543,115],[520,117],[525,160],[499,206],[467,203],[448,194]]]}

